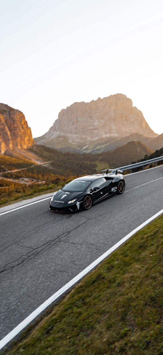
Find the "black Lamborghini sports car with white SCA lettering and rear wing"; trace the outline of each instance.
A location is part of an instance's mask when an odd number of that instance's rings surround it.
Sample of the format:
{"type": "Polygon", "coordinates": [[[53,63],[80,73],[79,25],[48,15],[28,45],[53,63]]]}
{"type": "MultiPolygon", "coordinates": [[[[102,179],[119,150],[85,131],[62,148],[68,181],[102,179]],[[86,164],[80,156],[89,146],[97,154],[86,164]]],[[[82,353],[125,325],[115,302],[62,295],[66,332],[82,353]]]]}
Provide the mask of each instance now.
{"type": "Polygon", "coordinates": [[[53,193],[49,203],[50,209],[56,212],[75,212],[89,209],[92,204],[111,196],[122,194],[125,181],[120,170],[102,170],[105,174],[82,176],[72,180],[62,189],[53,193]],[[111,173],[108,173],[111,171],[111,173]]]}

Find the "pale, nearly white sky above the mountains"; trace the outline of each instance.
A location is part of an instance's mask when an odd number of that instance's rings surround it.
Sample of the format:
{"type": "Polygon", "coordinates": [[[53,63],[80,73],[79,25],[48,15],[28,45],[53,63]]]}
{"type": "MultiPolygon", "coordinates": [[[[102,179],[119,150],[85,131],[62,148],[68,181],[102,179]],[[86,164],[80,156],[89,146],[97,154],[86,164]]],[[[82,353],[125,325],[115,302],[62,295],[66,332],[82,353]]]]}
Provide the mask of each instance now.
{"type": "Polygon", "coordinates": [[[162,0],[0,0],[0,102],[33,137],[62,108],[123,93],[163,132],[162,0]]]}

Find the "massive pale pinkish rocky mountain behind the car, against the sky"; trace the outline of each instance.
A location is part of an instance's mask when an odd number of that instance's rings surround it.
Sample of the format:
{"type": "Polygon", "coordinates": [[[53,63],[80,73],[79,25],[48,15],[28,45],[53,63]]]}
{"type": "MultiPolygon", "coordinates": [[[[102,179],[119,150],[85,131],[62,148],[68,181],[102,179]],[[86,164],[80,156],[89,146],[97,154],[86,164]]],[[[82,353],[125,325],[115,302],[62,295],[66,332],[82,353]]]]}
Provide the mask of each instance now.
{"type": "Polygon", "coordinates": [[[36,139],[39,144],[56,147],[59,137],[73,144],[86,145],[99,138],[116,140],[134,132],[156,137],[140,110],[123,94],[115,94],[91,102],[75,102],[60,111],[50,130],[36,139]],[[56,139],[57,138],[57,139],[56,139]]]}

